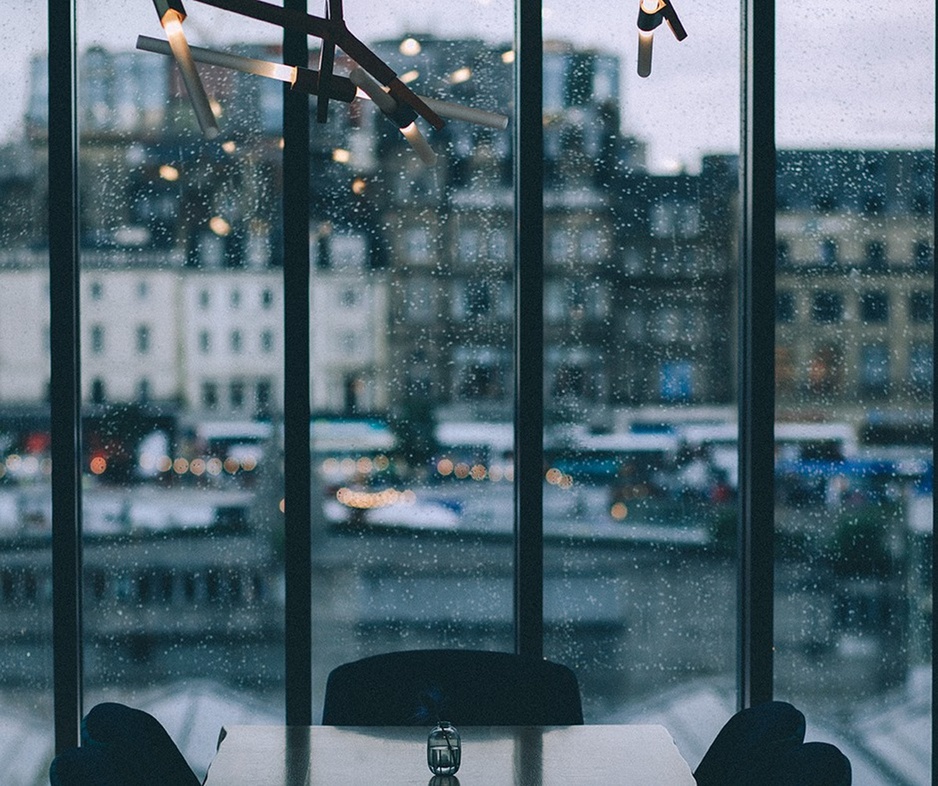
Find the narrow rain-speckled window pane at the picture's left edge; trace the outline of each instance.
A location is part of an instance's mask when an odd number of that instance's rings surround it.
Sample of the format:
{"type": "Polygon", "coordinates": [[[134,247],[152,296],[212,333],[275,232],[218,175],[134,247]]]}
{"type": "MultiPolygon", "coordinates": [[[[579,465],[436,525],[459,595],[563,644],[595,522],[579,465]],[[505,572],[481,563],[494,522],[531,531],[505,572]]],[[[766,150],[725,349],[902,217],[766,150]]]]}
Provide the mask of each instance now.
{"type": "Polygon", "coordinates": [[[52,758],[48,110],[43,5],[0,28],[0,782],[52,758]],[[39,100],[37,96],[42,96],[39,100]]]}

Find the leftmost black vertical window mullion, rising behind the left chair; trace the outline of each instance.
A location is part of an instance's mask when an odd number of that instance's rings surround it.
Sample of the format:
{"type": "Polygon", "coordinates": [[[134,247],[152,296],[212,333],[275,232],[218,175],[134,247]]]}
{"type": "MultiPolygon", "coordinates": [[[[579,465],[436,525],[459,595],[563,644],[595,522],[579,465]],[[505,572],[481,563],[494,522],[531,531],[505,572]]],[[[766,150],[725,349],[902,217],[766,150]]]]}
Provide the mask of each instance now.
{"type": "Polygon", "coordinates": [[[82,714],[78,91],[74,0],[49,0],[48,14],[52,652],[55,749],[61,752],[78,744],[82,714]]]}

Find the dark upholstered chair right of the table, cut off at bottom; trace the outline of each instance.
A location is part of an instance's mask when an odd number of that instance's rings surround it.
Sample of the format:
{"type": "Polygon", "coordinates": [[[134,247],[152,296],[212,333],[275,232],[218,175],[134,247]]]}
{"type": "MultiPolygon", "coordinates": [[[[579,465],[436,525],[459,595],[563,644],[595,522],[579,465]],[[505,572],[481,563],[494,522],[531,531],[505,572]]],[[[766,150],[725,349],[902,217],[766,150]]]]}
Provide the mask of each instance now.
{"type": "Polygon", "coordinates": [[[707,749],[697,786],[850,786],[850,761],[835,746],[805,742],[805,718],[770,701],[737,712],[707,749]]]}

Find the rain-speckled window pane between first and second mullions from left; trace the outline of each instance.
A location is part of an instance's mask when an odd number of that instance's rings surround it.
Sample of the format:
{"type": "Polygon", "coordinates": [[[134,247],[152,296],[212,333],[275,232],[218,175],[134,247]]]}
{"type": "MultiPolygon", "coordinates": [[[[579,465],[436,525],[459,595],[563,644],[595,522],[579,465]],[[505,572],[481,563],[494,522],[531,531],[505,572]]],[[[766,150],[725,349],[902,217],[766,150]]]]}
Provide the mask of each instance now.
{"type": "MultiPolygon", "coordinates": [[[[280,57],[187,10],[193,45],[280,57]]],[[[78,31],[85,704],[149,710],[202,772],[222,723],[283,717],[281,88],[200,66],[206,141],[134,48],[165,39],[152,4],[79,2],[78,31]]]]}

